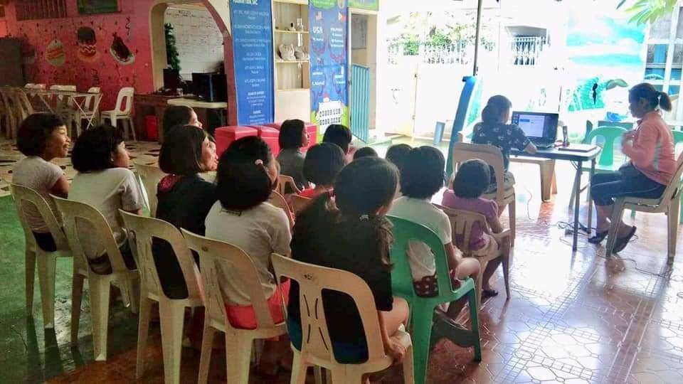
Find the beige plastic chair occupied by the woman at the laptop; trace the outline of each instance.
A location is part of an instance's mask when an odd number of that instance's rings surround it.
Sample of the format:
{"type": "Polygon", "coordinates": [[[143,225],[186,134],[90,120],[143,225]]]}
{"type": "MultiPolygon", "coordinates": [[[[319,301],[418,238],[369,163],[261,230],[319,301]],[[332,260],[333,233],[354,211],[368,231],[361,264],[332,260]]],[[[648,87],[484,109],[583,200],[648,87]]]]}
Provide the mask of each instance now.
{"type": "Polygon", "coordinates": [[[505,171],[503,155],[497,146],[488,144],[455,143],[453,145],[453,165],[455,166],[471,159],[480,159],[492,166],[496,177],[496,192],[482,195],[482,198],[494,200],[498,206],[507,206],[510,227],[510,245],[514,245],[515,238],[515,194],[514,187],[505,188],[505,171]]]}

